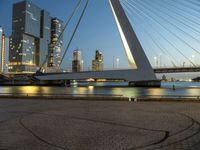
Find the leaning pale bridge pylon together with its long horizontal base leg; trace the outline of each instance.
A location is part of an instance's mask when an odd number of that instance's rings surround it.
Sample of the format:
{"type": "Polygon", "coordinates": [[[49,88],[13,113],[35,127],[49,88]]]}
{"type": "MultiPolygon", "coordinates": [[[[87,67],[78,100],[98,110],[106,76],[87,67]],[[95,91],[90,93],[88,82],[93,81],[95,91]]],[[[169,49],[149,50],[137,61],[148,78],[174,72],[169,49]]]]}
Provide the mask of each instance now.
{"type": "MultiPolygon", "coordinates": [[[[109,0],[113,16],[126,52],[129,70],[110,70],[100,72],[56,73],[36,76],[40,80],[82,80],[82,79],[124,79],[129,82],[144,82],[145,85],[157,79],[144,50],[123,10],[119,0],[109,0]]],[[[148,85],[147,85],[148,86],[148,85]]]]}

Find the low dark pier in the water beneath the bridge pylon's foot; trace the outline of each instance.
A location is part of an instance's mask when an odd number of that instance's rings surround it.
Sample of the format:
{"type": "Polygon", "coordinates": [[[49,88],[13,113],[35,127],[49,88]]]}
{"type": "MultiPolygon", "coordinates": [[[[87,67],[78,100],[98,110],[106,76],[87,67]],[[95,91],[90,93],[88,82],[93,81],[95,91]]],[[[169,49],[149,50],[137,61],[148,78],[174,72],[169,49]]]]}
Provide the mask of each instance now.
{"type": "Polygon", "coordinates": [[[160,87],[160,80],[151,80],[151,81],[130,81],[129,86],[131,87],[160,87]]]}

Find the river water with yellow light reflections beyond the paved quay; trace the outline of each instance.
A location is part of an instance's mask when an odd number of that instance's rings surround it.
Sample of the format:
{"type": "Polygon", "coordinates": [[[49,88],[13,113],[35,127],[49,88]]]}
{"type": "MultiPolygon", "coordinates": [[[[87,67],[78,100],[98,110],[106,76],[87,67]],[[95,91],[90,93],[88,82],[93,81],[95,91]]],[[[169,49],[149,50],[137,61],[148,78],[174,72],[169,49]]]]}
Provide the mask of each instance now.
{"type": "Polygon", "coordinates": [[[56,95],[107,95],[126,97],[171,97],[171,96],[200,96],[198,82],[163,82],[161,88],[128,87],[127,83],[81,83],[78,86],[1,86],[0,94],[33,93],[56,95]],[[176,90],[173,90],[175,85],[176,90]]]}

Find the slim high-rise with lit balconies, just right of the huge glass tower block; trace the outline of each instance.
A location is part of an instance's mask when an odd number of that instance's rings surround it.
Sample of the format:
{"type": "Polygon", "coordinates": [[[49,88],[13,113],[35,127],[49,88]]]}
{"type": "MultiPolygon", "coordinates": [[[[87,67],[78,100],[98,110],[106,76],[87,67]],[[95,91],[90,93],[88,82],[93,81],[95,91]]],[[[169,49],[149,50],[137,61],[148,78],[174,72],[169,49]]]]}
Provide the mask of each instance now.
{"type": "Polygon", "coordinates": [[[63,45],[63,22],[58,18],[51,19],[51,44],[50,44],[50,57],[49,67],[59,67],[61,62],[61,51],[63,45]]]}

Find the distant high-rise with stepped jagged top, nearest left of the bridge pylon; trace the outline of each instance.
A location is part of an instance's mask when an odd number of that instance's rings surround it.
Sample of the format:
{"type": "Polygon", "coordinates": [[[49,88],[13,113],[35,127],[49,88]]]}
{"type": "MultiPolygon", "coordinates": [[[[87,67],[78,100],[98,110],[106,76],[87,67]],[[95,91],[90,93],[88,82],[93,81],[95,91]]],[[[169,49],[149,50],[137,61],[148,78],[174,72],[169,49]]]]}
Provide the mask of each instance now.
{"type": "Polygon", "coordinates": [[[102,71],[103,70],[103,54],[96,50],[95,59],[92,60],[92,71],[102,71]]]}

